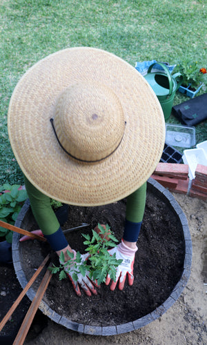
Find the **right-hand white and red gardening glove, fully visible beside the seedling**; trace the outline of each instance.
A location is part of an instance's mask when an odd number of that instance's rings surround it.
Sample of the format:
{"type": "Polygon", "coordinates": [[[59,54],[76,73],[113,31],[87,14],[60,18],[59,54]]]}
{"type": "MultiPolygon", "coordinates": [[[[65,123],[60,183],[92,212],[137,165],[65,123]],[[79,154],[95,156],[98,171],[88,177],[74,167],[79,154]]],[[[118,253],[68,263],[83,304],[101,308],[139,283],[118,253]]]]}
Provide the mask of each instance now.
{"type": "MultiPolygon", "coordinates": [[[[124,244],[123,240],[121,240],[121,243],[117,247],[108,250],[108,253],[110,253],[110,255],[113,255],[114,253],[116,254],[117,260],[122,259],[121,264],[117,267],[116,282],[112,281],[110,290],[115,290],[118,281],[119,290],[123,290],[124,283],[126,281],[126,274],[128,274],[128,284],[132,286],[134,282],[133,266],[137,249],[138,248],[129,248],[128,246],[126,246],[126,244],[124,244]]],[[[108,285],[109,283],[110,275],[107,275],[106,285],[108,285]]]]}

